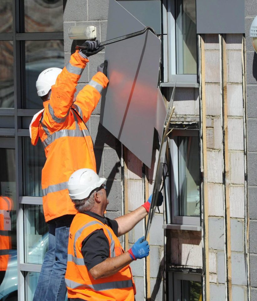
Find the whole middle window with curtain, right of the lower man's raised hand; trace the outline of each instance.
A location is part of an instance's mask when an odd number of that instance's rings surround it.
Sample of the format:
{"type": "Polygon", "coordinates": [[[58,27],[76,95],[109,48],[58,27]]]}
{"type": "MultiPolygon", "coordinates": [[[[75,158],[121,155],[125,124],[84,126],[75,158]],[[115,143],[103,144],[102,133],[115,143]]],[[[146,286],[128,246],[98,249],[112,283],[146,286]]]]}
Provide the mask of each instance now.
{"type": "Polygon", "coordinates": [[[170,156],[172,223],[200,225],[199,131],[173,130],[170,156]]]}

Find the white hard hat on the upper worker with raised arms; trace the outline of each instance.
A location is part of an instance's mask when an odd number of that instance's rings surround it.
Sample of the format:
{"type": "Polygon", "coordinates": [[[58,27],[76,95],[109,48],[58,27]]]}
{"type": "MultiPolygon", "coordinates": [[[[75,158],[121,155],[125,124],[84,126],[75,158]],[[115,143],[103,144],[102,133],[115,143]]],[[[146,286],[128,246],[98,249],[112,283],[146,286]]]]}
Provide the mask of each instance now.
{"type": "Polygon", "coordinates": [[[57,76],[61,73],[60,68],[48,68],[39,74],[36,81],[38,96],[46,95],[55,84],[57,76]]]}

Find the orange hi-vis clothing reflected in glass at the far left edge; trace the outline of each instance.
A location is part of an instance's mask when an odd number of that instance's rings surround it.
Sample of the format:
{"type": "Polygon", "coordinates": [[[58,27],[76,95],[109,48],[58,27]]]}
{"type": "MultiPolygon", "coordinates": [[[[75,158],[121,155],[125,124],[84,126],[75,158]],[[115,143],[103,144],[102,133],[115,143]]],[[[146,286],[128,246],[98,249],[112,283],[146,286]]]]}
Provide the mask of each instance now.
{"type": "Polygon", "coordinates": [[[7,270],[9,250],[12,249],[10,235],[10,211],[12,209],[13,200],[9,197],[0,196],[0,285],[7,270]]]}

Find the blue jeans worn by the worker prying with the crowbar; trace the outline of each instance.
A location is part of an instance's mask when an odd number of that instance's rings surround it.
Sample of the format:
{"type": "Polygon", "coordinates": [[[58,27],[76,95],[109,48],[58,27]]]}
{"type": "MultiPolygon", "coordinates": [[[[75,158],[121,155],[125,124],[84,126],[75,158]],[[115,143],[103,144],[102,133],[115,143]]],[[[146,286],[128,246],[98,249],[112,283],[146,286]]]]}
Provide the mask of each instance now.
{"type": "Polygon", "coordinates": [[[64,301],[69,230],[74,215],[49,222],[49,247],[38,279],[33,301],[64,301]]]}

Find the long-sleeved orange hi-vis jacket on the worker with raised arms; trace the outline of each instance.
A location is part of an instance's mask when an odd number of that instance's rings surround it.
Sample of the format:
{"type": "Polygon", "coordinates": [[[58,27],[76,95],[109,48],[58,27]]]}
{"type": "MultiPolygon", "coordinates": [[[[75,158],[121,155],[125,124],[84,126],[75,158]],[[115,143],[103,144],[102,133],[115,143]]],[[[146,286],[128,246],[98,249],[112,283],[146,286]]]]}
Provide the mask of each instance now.
{"type": "Polygon", "coordinates": [[[96,172],[92,138],[85,123],[107,87],[108,78],[97,72],[73,103],[77,82],[87,62],[78,51],[71,55],[52,86],[50,100],[43,103],[44,109],[34,115],[29,127],[31,143],[36,145],[40,137],[45,149],[42,191],[46,222],[76,214],[67,189],[71,174],[80,168],[96,172]]]}

